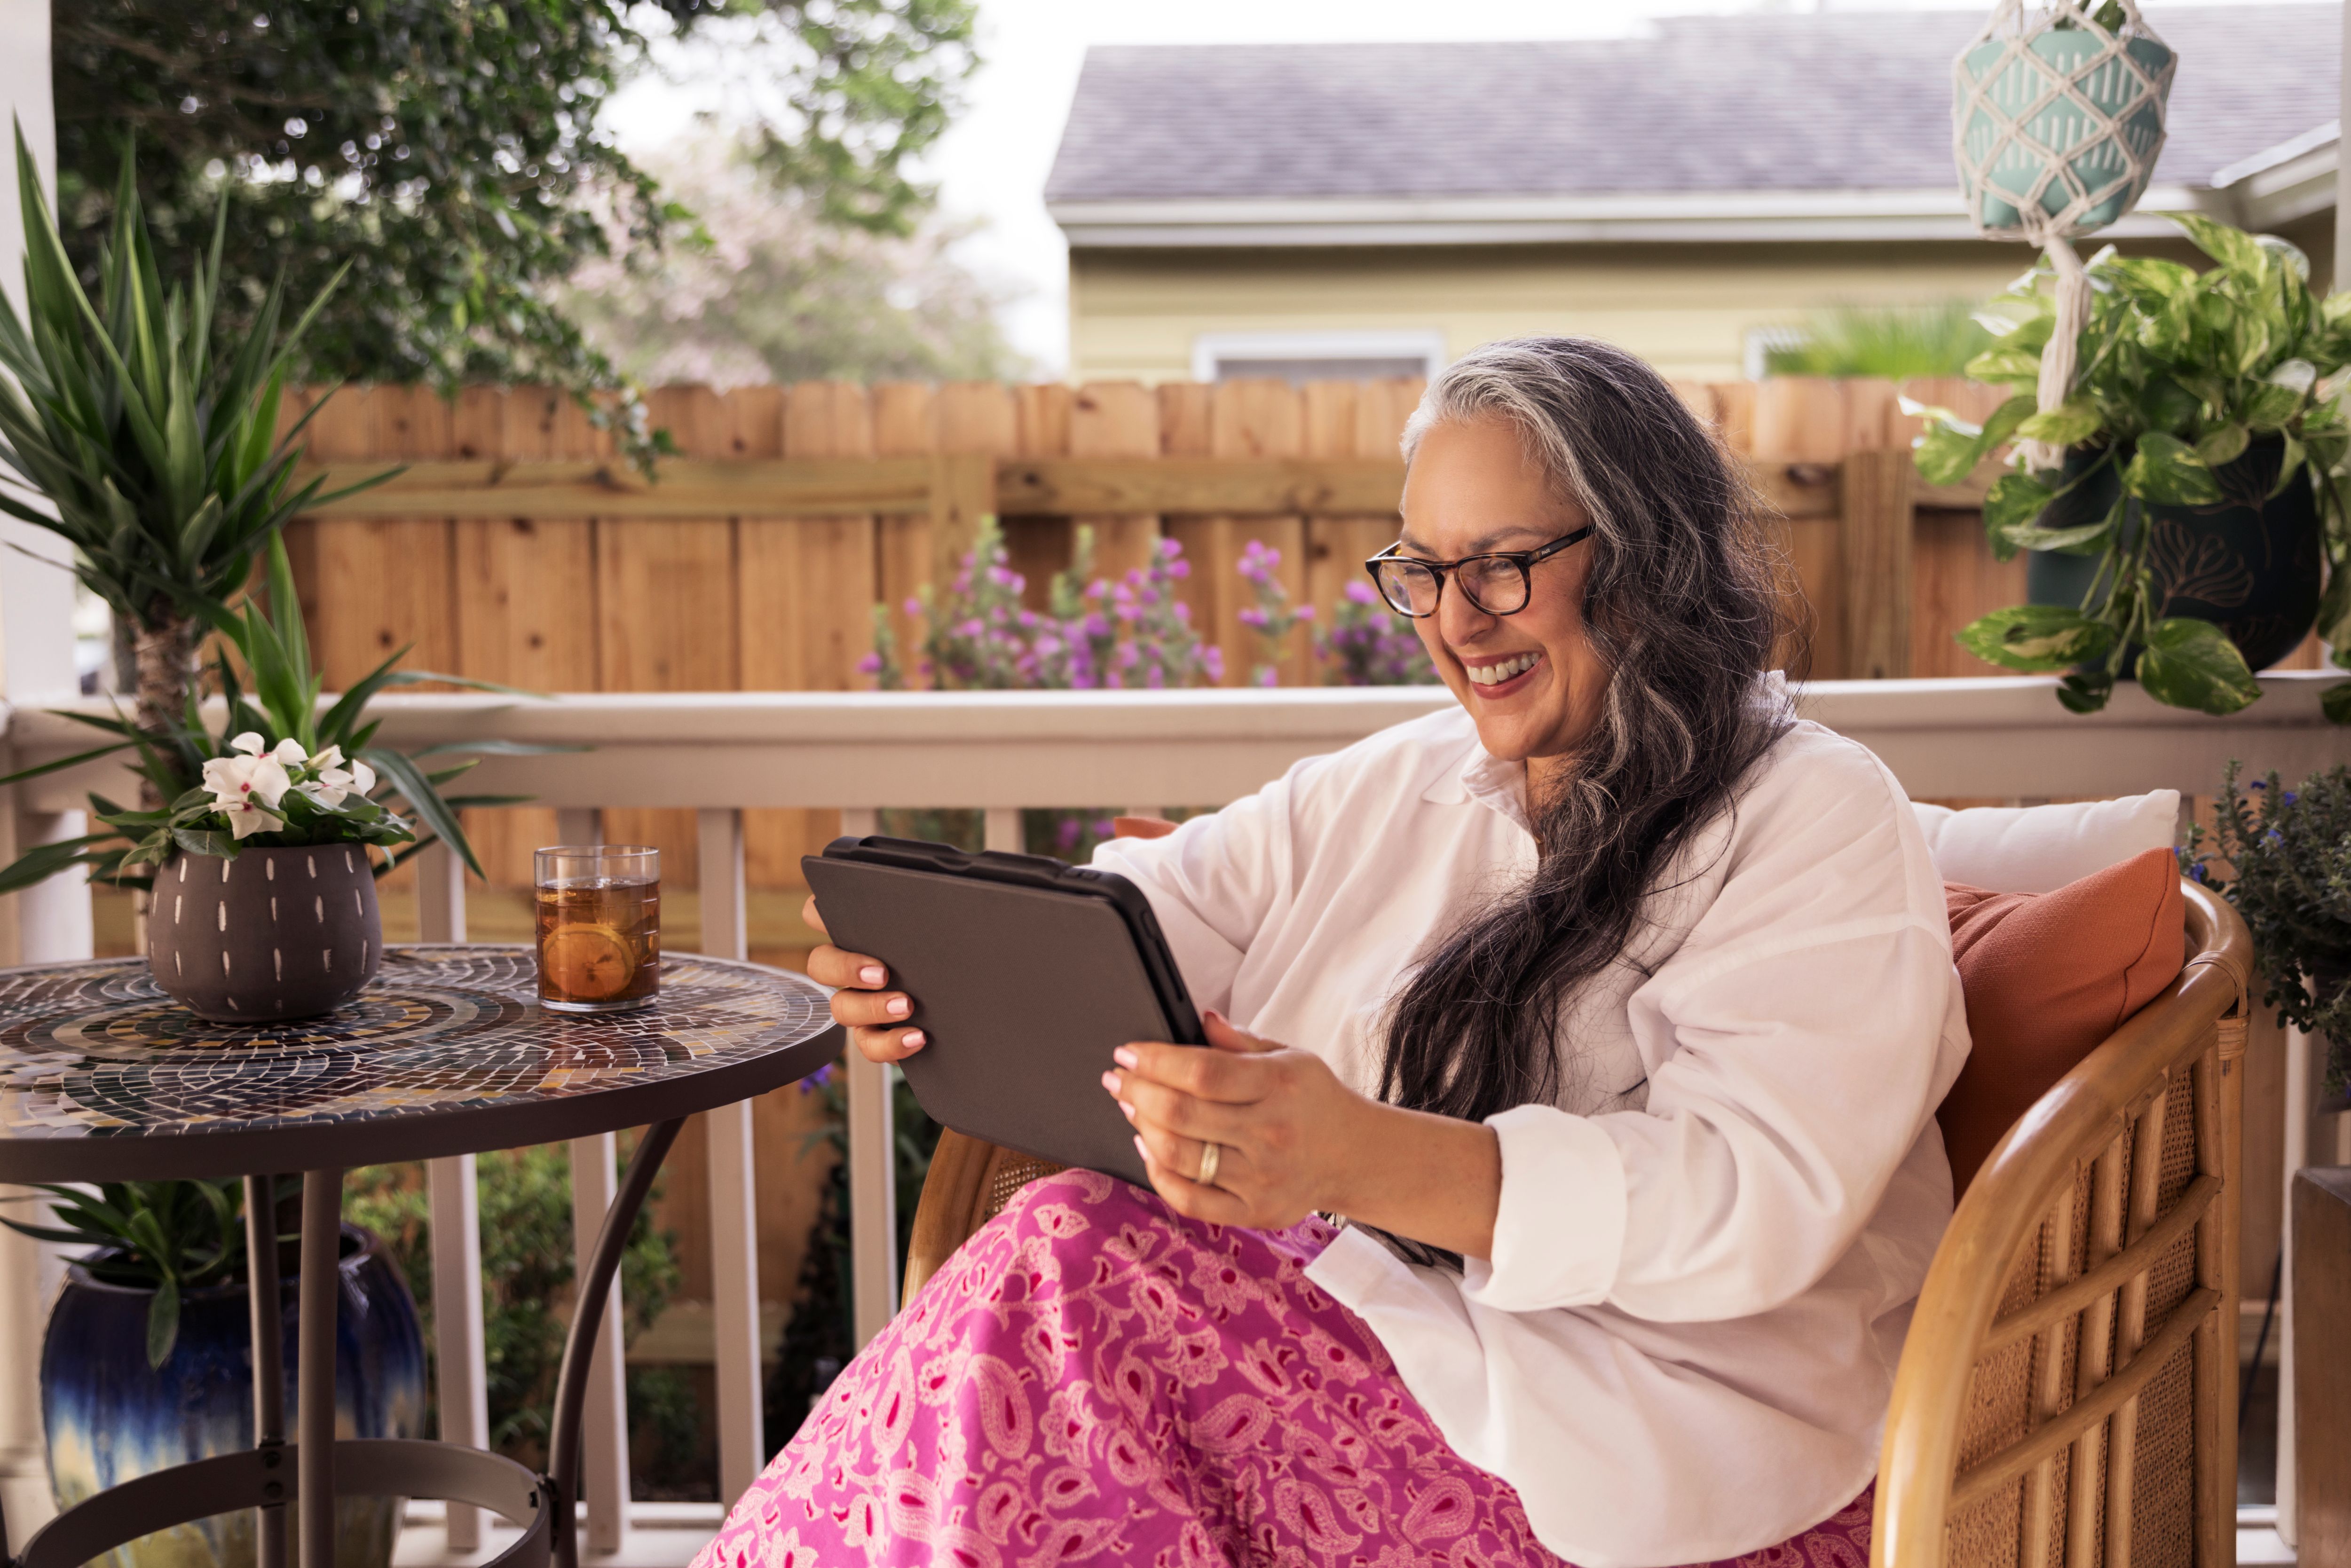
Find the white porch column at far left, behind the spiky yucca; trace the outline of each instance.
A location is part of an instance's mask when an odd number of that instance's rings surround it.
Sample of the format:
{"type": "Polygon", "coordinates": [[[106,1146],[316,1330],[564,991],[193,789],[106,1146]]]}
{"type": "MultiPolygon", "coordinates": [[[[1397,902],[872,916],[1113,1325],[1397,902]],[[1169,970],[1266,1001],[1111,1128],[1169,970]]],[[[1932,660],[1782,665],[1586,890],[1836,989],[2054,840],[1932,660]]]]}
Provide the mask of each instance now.
{"type": "MultiPolygon", "coordinates": [[[[0,106],[24,125],[33,165],[56,188],[56,115],[49,101],[49,0],[0,0],[0,106]]],[[[16,219],[16,158],[0,160],[0,292],[24,310],[24,226],[16,219]]],[[[73,576],[7,550],[19,543],[45,559],[63,559],[56,536],[31,524],[0,520],[0,696],[26,705],[78,689],[73,677],[73,576]]],[[[0,743],[0,757],[7,745],[0,743]]],[[[5,771],[5,769],[0,769],[5,771]]],[[[16,820],[16,802],[0,790],[0,853],[24,839],[82,832],[59,818],[16,820]]],[[[89,952],[89,893],[78,882],[0,898],[0,964],[31,957],[66,957],[54,943],[89,952]]],[[[21,1206],[14,1206],[21,1208],[21,1206]]],[[[24,1549],[26,1537],[49,1521],[49,1467],[40,1446],[40,1326],[56,1286],[54,1248],[35,1246],[16,1232],[0,1232],[0,1505],[7,1540],[0,1552],[24,1549]]]]}

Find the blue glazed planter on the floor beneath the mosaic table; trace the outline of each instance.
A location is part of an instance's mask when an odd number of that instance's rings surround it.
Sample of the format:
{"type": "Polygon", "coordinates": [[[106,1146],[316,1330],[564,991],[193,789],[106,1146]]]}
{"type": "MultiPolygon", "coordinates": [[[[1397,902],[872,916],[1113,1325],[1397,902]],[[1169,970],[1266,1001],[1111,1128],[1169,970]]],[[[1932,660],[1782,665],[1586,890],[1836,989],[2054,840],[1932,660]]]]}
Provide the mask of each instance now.
{"type": "MultiPolygon", "coordinates": [[[[294,1248],[284,1262],[292,1265],[294,1248]]],[[[294,1432],[296,1276],[284,1269],[287,1432],[294,1432]]],[[[150,1291],[110,1286],[75,1265],[40,1345],[40,1418],[59,1507],[169,1465],[254,1443],[252,1328],[245,1286],[181,1300],[179,1342],[162,1368],[146,1361],[150,1291]]],[[[426,1342],[416,1300],[383,1246],[343,1227],[334,1335],[336,1436],[421,1436],[426,1342]]],[[[292,1521],[287,1526],[292,1530],[292,1521]]],[[[336,1568],[386,1568],[400,1533],[397,1497],[336,1502],[336,1568]]],[[[252,1568],[254,1512],[158,1530],[101,1559],[108,1568],[252,1568]]]]}

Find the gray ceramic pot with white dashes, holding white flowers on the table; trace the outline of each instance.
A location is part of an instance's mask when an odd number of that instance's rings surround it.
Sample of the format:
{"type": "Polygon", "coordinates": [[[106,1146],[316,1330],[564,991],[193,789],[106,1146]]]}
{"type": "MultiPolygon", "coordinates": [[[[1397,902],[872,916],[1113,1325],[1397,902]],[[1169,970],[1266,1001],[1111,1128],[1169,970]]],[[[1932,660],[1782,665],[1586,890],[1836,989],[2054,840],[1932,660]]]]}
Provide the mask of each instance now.
{"type": "Polygon", "coordinates": [[[181,853],[155,877],[148,969],[200,1018],[317,1018],[381,959],[376,877],[357,844],[181,853]]]}

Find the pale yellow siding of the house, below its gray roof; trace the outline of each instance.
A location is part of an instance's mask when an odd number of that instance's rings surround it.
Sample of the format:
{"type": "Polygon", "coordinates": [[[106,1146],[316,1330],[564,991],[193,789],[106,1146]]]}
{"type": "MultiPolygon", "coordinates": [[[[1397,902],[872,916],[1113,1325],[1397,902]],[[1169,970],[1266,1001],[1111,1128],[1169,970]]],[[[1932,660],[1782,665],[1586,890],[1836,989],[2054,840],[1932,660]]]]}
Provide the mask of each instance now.
{"type": "MultiPolygon", "coordinates": [[[[2330,219],[2290,230],[2320,284],[2330,219]]],[[[2186,244],[2130,249],[2196,259],[2186,244]]],[[[1070,376],[1180,381],[1204,331],[1444,331],[1453,355],[1554,331],[1721,381],[1744,374],[1756,327],[1829,303],[1987,299],[2031,259],[1991,242],[1077,249],[1070,376]]]]}

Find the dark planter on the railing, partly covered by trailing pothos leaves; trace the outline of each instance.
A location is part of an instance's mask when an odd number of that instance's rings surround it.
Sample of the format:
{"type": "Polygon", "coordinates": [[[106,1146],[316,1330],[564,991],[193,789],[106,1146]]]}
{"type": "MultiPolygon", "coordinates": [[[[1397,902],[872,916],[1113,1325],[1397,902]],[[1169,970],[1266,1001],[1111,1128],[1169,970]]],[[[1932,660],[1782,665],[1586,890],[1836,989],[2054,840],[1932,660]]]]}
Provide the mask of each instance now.
{"type": "MultiPolygon", "coordinates": [[[[2088,461],[2095,454],[2071,454],[2067,470],[2088,461]]],[[[2196,616],[2215,623],[2252,670],[2266,670],[2292,654],[2318,621],[2318,501],[2299,475],[2283,494],[2269,494],[2283,461],[2283,440],[2259,440],[2215,470],[2224,496],[2215,505],[2132,503],[2123,520],[2132,538],[2142,512],[2154,529],[2146,567],[2154,574],[2156,618],[2196,616]]],[[[2057,498],[2041,522],[2062,529],[2104,517],[2118,487],[2114,468],[2106,468],[2057,498]]],[[[2024,564],[2027,597],[2034,604],[2081,604],[2095,576],[2095,555],[2034,550],[2024,564]]]]}

